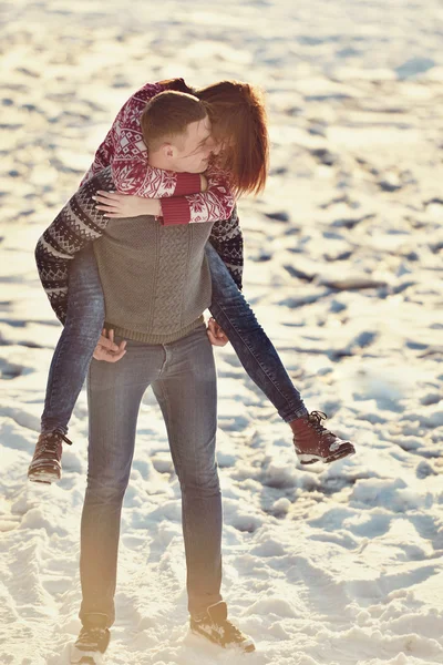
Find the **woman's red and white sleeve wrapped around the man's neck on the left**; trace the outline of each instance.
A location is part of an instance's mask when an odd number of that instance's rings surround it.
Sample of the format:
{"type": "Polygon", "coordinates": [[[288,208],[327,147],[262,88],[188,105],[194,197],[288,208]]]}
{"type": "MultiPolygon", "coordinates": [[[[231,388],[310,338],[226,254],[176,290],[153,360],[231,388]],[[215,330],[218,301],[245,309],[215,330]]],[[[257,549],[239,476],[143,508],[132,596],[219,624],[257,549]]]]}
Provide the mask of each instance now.
{"type": "Polygon", "coordinates": [[[113,182],[122,194],[163,198],[200,191],[199,174],[153,168],[147,162],[140,117],[150,99],[163,90],[165,88],[158,83],[148,83],[127,100],[96,151],[82,185],[111,164],[113,182]]]}

